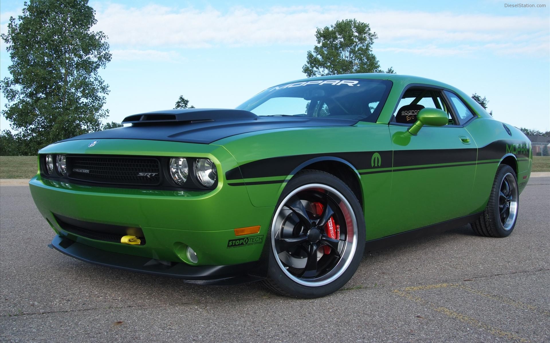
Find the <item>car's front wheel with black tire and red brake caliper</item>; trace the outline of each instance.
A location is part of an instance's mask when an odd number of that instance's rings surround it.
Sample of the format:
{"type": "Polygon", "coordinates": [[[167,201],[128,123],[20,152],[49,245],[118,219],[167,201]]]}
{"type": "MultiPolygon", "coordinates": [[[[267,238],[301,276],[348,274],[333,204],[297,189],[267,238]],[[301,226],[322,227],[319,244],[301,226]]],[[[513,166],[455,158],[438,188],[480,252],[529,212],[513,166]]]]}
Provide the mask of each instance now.
{"type": "Polygon", "coordinates": [[[365,250],[361,205],[339,178],[317,170],[301,171],[279,197],[267,244],[268,276],[262,281],[267,289],[306,299],[331,294],[349,281],[361,262],[365,250]],[[327,232],[331,229],[332,241],[327,232]]]}

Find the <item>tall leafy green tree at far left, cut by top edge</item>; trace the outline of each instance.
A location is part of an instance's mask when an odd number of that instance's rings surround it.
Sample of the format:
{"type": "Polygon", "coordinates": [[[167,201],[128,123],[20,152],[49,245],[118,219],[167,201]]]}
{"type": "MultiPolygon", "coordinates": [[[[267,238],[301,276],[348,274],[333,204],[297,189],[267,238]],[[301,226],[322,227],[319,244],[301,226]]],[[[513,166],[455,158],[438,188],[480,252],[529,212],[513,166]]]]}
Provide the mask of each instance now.
{"type": "Polygon", "coordinates": [[[91,31],[86,0],[30,0],[9,19],[2,40],[12,60],[0,81],[2,111],[27,154],[57,140],[97,131],[108,85],[98,74],[111,60],[106,35],[91,31]]]}

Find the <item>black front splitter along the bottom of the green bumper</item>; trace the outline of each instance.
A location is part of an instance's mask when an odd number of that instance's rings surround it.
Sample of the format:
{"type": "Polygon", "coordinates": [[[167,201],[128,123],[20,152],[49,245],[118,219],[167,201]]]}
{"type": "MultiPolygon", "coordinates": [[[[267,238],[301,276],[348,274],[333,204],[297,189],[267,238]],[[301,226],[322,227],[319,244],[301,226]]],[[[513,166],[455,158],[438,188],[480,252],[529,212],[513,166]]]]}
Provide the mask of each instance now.
{"type": "Polygon", "coordinates": [[[228,266],[190,266],[183,262],[160,261],[142,256],[119,254],[75,242],[56,235],[51,248],[78,260],[94,265],[123,269],[164,277],[183,279],[185,282],[215,286],[235,285],[263,279],[249,272],[257,268],[258,262],[246,262],[228,266]]]}

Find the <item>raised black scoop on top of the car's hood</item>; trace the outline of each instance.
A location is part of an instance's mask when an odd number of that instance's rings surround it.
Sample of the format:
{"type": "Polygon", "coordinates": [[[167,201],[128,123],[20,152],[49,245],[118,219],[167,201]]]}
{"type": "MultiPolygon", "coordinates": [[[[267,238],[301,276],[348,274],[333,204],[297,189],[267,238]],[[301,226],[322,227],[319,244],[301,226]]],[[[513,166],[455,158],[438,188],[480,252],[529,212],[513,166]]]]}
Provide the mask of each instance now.
{"type": "Polygon", "coordinates": [[[127,116],[123,124],[154,125],[155,123],[183,123],[222,120],[257,120],[258,116],[245,110],[233,109],[177,109],[127,116]]]}

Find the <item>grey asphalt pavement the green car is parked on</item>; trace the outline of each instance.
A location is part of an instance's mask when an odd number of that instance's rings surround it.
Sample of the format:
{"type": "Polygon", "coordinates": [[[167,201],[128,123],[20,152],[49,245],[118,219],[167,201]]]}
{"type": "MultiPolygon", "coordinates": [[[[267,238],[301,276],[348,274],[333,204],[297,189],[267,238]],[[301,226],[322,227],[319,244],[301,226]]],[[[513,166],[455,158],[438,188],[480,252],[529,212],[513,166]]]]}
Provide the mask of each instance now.
{"type": "Polygon", "coordinates": [[[52,237],[27,187],[0,187],[0,341],[550,341],[549,177],[530,179],[508,238],[463,226],[371,252],[313,300],[90,265],[52,237]]]}

